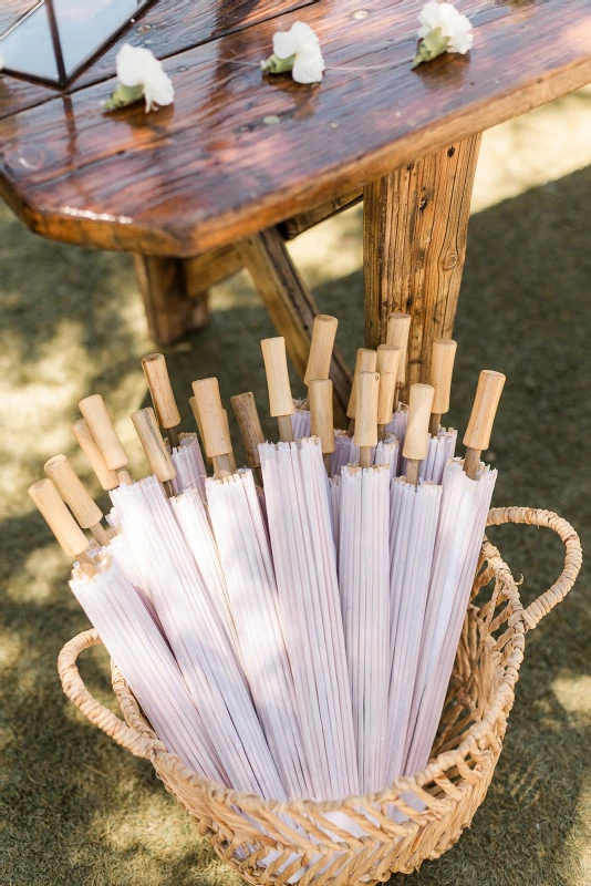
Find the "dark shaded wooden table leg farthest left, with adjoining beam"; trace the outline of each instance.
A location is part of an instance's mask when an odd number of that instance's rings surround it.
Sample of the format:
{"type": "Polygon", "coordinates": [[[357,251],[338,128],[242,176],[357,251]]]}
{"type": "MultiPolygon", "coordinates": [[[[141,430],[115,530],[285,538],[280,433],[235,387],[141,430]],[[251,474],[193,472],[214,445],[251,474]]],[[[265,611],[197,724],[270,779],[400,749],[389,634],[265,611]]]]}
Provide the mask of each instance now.
{"type": "Polygon", "coordinates": [[[149,334],[172,344],[209,321],[209,288],[242,267],[234,246],[194,258],[134,256],[149,334]]]}

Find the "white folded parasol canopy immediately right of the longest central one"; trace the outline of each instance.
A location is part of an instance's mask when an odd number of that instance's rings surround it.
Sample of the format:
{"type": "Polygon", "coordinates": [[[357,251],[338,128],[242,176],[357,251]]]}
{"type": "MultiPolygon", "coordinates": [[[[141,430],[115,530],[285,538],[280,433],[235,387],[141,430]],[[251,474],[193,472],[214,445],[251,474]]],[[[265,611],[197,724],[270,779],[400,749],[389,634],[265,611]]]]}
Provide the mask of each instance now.
{"type": "Polygon", "coordinates": [[[390,471],[341,472],[339,587],[360,790],[386,784],[390,682],[390,471]]]}

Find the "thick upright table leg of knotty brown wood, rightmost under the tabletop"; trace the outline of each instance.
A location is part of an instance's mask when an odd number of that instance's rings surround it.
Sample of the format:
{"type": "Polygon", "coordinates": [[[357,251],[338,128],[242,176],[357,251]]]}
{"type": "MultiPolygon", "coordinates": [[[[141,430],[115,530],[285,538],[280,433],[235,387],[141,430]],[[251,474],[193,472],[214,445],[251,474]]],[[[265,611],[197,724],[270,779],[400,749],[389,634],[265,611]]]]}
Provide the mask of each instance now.
{"type": "Polygon", "coordinates": [[[454,329],[480,136],[411,163],[364,189],[365,341],[411,313],[407,385],[428,381],[434,338],[454,329]]]}

